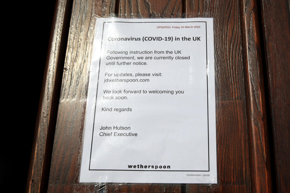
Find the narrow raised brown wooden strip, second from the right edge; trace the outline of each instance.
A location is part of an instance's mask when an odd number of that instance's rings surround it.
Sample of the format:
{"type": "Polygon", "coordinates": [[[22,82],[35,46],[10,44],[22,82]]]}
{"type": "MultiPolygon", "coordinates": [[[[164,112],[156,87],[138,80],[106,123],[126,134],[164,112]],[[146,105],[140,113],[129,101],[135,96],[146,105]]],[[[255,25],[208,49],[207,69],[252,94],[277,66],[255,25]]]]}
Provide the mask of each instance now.
{"type": "Polygon", "coordinates": [[[256,0],[240,1],[252,192],[272,192],[265,86],[256,0]]]}

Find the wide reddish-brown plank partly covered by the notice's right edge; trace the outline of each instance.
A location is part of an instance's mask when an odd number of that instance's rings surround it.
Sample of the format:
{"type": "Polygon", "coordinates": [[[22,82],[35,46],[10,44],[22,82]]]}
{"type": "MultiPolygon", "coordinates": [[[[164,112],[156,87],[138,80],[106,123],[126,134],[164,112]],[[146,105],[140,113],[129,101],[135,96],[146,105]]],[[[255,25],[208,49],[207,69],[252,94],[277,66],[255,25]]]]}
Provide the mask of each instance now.
{"type": "Polygon", "coordinates": [[[250,168],[238,1],[187,0],[186,15],[214,18],[219,185],[187,192],[250,192],[250,168]]]}

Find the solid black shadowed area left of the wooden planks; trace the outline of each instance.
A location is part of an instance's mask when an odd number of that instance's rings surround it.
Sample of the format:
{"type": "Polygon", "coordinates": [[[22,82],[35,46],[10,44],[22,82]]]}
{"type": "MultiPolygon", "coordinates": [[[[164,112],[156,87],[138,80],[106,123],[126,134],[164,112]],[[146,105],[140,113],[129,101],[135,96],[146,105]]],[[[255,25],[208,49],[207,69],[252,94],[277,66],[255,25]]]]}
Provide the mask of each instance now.
{"type": "Polygon", "coordinates": [[[12,192],[26,186],[54,7],[54,0],[3,5],[0,183],[12,192]]]}

